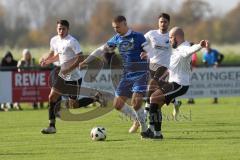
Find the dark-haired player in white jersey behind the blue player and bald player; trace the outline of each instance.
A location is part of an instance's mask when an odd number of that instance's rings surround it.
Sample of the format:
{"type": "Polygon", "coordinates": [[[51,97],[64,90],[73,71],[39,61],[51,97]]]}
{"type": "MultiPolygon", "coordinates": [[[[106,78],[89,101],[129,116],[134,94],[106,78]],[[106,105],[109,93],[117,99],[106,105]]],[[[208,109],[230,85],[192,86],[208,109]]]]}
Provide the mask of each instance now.
{"type": "MultiPolygon", "coordinates": [[[[149,58],[150,64],[150,80],[148,84],[147,100],[145,105],[146,114],[150,108],[150,96],[161,85],[162,81],[166,81],[168,77],[168,67],[171,55],[171,45],[169,43],[168,27],[170,24],[170,15],[167,13],[161,13],[158,16],[158,29],[148,31],[144,36],[147,40],[148,53],[142,53],[142,58],[149,58]]],[[[173,101],[174,111],[178,111],[181,102],[173,101]]],[[[175,112],[177,113],[177,112],[175,112]]],[[[129,129],[130,133],[137,131],[139,124],[136,121],[129,129]]],[[[149,128],[153,131],[153,127],[149,125],[149,128]]]]}

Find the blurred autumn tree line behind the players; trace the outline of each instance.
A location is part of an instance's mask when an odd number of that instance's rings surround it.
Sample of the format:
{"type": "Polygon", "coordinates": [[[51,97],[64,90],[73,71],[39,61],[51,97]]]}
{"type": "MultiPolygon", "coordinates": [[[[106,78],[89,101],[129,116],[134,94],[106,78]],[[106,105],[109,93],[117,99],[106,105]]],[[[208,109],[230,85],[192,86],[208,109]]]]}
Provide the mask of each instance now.
{"type": "Polygon", "coordinates": [[[202,0],[184,0],[176,8],[163,8],[161,0],[1,0],[0,45],[48,46],[49,39],[56,34],[57,19],[68,19],[71,34],[81,43],[102,43],[114,33],[111,27],[114,16],[126,15],[132,28],[145,33],[157,28],[161,12],[169,13],[171,26],[183,27],[191,41],[203,38],[218,44],[240,41],[240,3],[222,16],[214,15],[210,5],[202,0]]]}

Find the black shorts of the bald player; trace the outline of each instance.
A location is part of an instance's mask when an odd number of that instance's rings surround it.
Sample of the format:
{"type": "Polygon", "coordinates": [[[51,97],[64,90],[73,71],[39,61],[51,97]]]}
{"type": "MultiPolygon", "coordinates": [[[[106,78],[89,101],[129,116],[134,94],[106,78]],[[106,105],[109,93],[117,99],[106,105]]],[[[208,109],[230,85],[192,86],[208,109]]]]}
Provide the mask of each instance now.
{"type": "Polygon", "coordinates": [[[189,86],[182,86],[175,82],[165,82],[160,85],[160,90],[165,96],[165,103],[167,105],[169,105],[174,98],[184,95],[188,88],[189,86]]]}

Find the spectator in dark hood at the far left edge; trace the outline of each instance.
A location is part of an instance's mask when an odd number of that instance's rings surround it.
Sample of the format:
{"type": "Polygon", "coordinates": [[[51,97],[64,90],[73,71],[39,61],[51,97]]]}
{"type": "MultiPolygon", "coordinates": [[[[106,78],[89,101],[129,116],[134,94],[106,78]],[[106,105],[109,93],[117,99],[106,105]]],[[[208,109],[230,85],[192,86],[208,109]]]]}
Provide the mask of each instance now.
{"type": "MultiPolygon", "coordinates": [[[[1,61],[1,71],[14,71],[17,70],[17,61],[13,58],[13,55],[10,51],[7,51],[1,61]]],[[[21,110],[21,107],[18,103],[3,103],[1,104],[1,109],[8,111],[9,108],[16,108],[21,110]]]]}

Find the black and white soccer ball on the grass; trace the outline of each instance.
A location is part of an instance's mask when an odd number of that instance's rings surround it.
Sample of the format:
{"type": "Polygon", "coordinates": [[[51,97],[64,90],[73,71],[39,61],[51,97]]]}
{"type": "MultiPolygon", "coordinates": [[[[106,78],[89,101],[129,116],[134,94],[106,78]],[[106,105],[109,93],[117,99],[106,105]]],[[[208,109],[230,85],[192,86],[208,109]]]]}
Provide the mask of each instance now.
{"type": "Polygon", "coordinates": [[[104,141],[107,137],[106,129],[104,127],[94,127],[90,136],[94,141],[104,141]]]}

